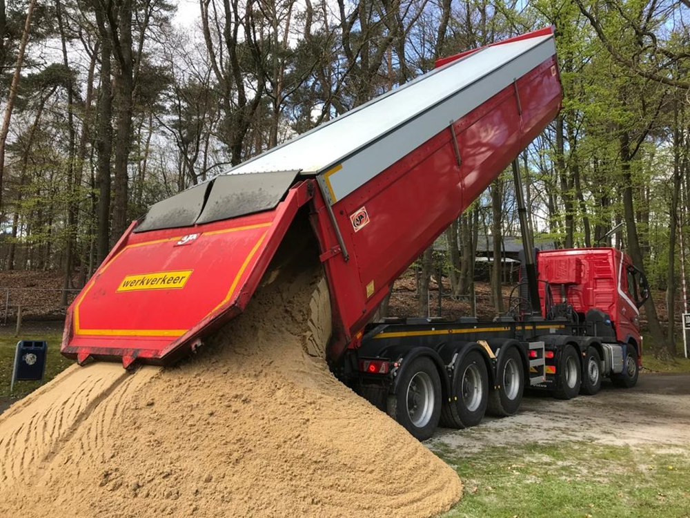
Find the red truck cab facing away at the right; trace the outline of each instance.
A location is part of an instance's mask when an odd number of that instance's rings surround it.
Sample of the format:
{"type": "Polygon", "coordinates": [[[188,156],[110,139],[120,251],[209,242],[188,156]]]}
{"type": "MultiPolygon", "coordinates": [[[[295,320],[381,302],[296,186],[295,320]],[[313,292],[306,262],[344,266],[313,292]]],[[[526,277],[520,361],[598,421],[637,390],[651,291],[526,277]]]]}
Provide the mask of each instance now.
{"type": "Polygon", "coordinates": [[[559,304],[571,306],[581,321],[591,310],[602,311],[618,341],[633,345],[640,361],[640,307],[649,287],[625,253],[615,248],[540,251],[537,269],[544,318],[553,317],[549,311],[559,304]]]}

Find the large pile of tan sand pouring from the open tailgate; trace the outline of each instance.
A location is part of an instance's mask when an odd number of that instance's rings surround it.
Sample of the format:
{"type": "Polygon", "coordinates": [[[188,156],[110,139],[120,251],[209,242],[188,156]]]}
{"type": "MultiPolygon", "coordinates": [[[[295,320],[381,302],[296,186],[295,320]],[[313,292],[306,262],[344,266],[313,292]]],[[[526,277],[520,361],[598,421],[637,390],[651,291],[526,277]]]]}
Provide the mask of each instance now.
{"type": "Polygon", "coordinates": [[[0,416],[0,516],[428,517],[451,468],[328,371],[326,283],[273,272],[177,367],[71,367],[0,416]]]}

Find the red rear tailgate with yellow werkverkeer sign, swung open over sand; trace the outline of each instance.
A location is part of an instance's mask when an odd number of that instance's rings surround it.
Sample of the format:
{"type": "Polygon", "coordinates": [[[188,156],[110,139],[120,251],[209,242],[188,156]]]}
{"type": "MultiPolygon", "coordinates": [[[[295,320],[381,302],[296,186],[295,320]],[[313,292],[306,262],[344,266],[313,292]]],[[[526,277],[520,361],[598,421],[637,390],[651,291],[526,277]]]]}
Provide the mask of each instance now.
{"type": "Polygon", "coordinates": [[[270,211],[193,227],[135,233],[112,249],[68,309],[61,352],[168,363],[253,295],[300,205],[294,186],[270,211]]]}

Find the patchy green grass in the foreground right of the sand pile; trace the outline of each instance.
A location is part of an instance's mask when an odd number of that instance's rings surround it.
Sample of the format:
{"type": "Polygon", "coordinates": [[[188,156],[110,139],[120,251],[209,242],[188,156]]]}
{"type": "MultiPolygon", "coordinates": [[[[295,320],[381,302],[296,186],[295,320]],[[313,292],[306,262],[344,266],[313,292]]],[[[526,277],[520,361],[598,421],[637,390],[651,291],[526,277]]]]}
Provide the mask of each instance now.
{"type": "Polygon", "coordinates": [[[466,454],[435,445],[464,483],[442,518],[690,517],[690,454],[590,443],[466,454]]]}

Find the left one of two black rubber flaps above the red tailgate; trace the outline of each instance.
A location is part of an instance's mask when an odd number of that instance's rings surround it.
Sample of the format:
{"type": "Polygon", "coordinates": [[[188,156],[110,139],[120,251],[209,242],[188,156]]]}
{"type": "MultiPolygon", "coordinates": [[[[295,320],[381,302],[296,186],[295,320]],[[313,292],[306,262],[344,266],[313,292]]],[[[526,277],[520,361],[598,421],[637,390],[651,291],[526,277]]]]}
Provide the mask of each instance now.
{"type": "Polygon", "coordinates": [[[211,184],[213,182],[199,184],[153,205],[135,232],[191,227],[204,207],[206,191],[211,184]]]}

